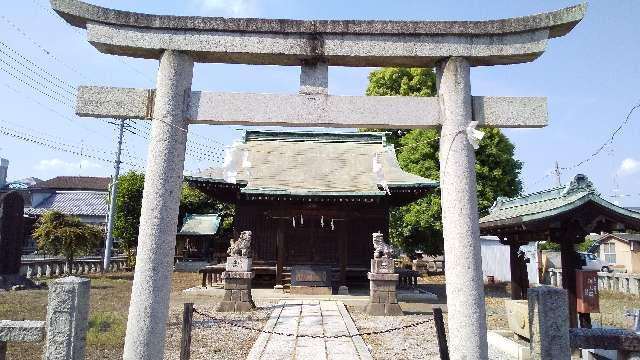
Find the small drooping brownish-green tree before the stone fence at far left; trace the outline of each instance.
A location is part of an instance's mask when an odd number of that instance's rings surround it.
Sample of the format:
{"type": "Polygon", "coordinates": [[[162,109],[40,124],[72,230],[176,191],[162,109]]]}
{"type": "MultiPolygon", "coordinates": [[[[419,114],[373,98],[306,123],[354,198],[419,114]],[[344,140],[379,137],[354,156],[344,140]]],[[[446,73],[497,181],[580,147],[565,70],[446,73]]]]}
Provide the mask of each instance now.
{"type": "Polygon", "coordinates": [[[77,256],[93,253],[104,239],[104,230],[59,211],[47,211],[36,221],[33,237],[38,249],[64,256],[70,264],[77,256]]]}

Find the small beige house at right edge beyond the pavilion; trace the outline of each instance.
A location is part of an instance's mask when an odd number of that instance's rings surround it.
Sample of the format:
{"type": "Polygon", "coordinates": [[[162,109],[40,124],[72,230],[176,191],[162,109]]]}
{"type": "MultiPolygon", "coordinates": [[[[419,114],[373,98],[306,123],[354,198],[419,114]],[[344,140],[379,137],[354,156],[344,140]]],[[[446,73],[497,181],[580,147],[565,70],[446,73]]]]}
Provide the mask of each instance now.
{"type": "Polygon", "coordinates": [[[616,269],[640,273],[640,234],[601,234],[594,239],[600,244],[598,257],[616,269]]]}

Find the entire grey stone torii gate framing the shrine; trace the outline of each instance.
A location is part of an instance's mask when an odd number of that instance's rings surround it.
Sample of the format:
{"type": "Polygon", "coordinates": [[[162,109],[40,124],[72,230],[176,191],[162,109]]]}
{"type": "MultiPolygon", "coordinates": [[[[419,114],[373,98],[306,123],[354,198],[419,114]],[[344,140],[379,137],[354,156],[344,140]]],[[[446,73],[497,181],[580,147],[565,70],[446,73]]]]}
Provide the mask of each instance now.
{"type": "Polygon", "coordinates": [[[81,87],[80,116],[152,120],[125,359],[163,356],[189,124],[441,127],[452,359],[487,358],[473,126],[542,127],[545,98],[471,96],[470,68],[535,60],[586,6],[495,21],[296,21],[159,16],[77,0],[53,10],[100,52],[159,59],[156,89],[81,87]],[[194,62],[300,66],[295,95],[192,92],[194,62]],[[328,94],[328,66],[435,67],[438,97],[328,94]]]}

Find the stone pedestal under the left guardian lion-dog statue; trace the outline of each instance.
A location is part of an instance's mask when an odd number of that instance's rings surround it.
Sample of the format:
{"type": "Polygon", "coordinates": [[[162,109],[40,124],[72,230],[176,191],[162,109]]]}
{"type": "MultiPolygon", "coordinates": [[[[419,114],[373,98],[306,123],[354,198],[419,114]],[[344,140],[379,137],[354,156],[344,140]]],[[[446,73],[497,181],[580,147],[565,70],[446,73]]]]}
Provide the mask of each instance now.
{"type": "Polygon", "coordinates": [[[224,298],[218,306],[222,312],[244,312],[256,307],[251,297],[251,279],[253,271],[225,271],[222,273],[224,281],[224,298]]]}

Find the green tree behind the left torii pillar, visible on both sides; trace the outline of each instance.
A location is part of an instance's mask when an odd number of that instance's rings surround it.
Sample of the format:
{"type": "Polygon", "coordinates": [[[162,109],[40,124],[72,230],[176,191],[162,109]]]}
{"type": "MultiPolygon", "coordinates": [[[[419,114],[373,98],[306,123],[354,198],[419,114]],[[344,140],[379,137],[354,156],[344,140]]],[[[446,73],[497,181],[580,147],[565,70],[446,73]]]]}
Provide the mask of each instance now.
{"type": "MultiPolygon", "coordinates": [[[[142,209],[142,193],[144,190],[144,174],[130,171],[118,178],[118,195],[116,197],[114,237],[118,241],[120,251],[127,254],[130,265],[133,265],[133,250],[138,245],[140,228],[140,212],[142,209]]],[[[182,184],[180,194],[180,212],[178,226],[182,224],[185,214],[202,214],[216,212],[223,217],[221,231],[229,231],[233,217],[233,208],[220,204],[202,191],[182,184]]]]}

